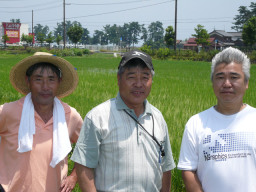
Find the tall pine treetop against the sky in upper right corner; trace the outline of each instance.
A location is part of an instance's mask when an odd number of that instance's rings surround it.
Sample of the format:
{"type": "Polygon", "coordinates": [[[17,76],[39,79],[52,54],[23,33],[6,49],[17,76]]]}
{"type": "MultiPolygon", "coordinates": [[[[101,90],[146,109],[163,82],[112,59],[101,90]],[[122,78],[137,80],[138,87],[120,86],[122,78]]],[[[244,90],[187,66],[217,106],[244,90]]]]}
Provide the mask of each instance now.
{"type": "Polygon", "coordinates": [[[250,9],[248,9],[246,6],[240,6],[238,8],[239,15],[236,15],[233,23],[234,26],[231,28],[236,31],[242,31],[243,25],[251,18],[256,16],[256,3],[251,2],[251,5],[249,6],[250,9]]]}

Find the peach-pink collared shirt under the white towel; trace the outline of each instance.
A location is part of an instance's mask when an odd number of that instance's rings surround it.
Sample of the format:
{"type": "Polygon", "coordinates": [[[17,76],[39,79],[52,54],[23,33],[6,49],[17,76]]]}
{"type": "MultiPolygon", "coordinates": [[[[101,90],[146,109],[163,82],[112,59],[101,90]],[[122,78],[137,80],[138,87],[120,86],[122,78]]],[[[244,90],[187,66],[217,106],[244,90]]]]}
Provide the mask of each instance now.
{"type": "MultiPolygon", "coordinates": [[[[55,168],[52,159],[53,119],[47,123],[35,112],[36,133],[32,151],[19,153],[18,131],[24,97],[0,106],[0,184],[10,192],[57,192],[67,176],[68,159],[55,168]]],[[[72,107],[63,103],[70,141],[78,139],[83,120],[72,107]]]]}

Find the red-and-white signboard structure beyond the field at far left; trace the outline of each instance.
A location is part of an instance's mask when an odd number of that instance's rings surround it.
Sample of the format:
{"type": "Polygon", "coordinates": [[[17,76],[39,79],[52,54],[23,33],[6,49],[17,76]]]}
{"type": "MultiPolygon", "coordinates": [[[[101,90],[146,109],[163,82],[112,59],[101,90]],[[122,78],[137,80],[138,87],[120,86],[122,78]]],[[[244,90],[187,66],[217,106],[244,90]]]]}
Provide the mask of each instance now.
{"type": "Polygon", "coordinates": [[[0,23],[0,42],[2,43],[2,36],[5,34],[10,39],[9,41],[7,41],[7,43],[19,43],[21,41],[22,34],[29,35],[28,24],[2,22],[0,23]]]}

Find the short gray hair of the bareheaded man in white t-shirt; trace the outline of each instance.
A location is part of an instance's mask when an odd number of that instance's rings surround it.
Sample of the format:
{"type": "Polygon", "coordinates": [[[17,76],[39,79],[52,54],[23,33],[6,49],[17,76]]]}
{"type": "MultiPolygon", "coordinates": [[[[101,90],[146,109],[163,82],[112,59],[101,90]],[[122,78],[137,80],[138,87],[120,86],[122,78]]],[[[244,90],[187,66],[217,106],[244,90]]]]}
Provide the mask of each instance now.
{"type": "Polygon", "coordinates": [[[212,59],[211,80],[213,80],[213,73],[217,65],[221,63],[228,65],[232,62],[242,65],[245,81],[247,82],[250,79],[250,59],[242,51],[232,47],[224,49],[220,53],[216,54],[212,59]]]}

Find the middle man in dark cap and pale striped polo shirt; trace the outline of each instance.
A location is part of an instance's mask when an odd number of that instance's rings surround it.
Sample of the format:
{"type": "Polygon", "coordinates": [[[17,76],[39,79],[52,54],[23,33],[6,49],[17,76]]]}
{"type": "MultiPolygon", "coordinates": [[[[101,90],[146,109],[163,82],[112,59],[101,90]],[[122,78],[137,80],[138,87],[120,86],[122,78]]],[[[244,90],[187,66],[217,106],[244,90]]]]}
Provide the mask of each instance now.
{"type": "Polygon", "coordinates": [[[168,128],[146,99],[153,74],[149,55],[125,53],[117,97],[86,115],[71,158],[82,191],[170,191],[175,163],[168,128]]]}

